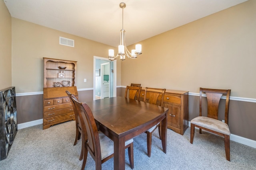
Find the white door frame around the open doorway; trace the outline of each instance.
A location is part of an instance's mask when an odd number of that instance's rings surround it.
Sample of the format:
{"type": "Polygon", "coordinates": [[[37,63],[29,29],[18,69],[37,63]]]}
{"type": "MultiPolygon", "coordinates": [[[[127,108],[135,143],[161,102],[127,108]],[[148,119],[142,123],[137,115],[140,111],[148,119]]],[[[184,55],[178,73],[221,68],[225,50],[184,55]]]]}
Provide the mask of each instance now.
{"type": "MultiPolygon", "coordinates": [[[[109,61],[108,58],[93,56],[93,100],[95,100],[95,95],[96,95],[95,94],[96,59],[109,61]]],[[[113,62],[113,67],[114,67],[114,74],[113,74],[113,97],[116,97],[116,60],[110,61],[110,62],[113,62]]]]}

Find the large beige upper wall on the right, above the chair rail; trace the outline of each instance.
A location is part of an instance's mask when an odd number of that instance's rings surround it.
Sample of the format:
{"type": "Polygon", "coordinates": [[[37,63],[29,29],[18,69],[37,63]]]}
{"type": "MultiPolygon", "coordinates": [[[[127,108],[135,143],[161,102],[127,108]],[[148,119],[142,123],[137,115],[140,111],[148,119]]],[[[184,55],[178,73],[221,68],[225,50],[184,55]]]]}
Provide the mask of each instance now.
{"type": "Polygon", "coordinates": [[[256,0],[249,0],[140,42],[143,54],[122,62],[122,86],[223,88],[255,99],[255,9],[256,0]]]}

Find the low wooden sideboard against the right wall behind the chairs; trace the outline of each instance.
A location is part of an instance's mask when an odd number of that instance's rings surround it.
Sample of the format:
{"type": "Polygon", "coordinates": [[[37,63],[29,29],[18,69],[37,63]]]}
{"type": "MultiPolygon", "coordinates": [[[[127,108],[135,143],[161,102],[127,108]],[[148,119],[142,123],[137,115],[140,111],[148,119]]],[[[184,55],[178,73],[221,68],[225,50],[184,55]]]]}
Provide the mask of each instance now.
{"type": "MultiPolygon", "coordinates": [[[[140,101],[144,100],[144,92],[142,88],[140,101]]],[[[166,89],[163,105],[169,109],[167,127],[183,135],[188,128],[188,91],[166,89]]]]}

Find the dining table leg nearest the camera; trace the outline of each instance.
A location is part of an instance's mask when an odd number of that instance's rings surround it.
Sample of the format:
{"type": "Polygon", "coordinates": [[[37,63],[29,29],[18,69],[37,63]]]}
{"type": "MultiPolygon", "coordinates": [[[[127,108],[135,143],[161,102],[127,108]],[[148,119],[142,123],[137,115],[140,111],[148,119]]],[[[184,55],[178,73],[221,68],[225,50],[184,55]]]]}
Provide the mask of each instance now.
{"type": "Polygon", "coordinates": [[[124,138],[114,139],[114,170],[125,168],[125,140],[124,138]]]}

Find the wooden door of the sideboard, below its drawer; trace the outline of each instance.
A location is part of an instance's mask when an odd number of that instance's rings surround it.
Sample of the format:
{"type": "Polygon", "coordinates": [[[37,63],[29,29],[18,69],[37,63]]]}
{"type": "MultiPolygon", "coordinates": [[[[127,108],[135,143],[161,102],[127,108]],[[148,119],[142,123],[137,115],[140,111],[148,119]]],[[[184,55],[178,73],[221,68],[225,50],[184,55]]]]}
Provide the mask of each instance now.
{"type": "Polygon", "coordinates": [[[181,110],[180,110],[180,105],[175,105],[175,104],[170,104],[170,103],[166,103],[164,102],[164,106],[169,109],[168,111],[168,117],[167,117],[167,124],[168,126],[172,126],[172,127],[176,127],[178,129],[180,129],[180,114],[181,114],[181,110]]]}

